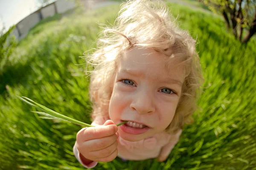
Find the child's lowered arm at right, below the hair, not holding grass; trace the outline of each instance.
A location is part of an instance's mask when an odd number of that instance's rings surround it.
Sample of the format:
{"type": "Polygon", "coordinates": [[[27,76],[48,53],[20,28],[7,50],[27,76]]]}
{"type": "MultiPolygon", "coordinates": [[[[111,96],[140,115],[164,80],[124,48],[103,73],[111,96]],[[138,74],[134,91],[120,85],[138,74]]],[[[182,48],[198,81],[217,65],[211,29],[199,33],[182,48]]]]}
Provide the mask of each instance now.
{"type": "Polygon", "coordinates": [[[162,162],[168,158],[172,149],[175,147],[175,144],[177,144],[177,142],[179,141],[181,132],[182,130],[180,129],[180,131],[178,131],[174,136],[172,136],[168,144],[162,147],[160,154],[157,157],[157,161],[162,162]]]}

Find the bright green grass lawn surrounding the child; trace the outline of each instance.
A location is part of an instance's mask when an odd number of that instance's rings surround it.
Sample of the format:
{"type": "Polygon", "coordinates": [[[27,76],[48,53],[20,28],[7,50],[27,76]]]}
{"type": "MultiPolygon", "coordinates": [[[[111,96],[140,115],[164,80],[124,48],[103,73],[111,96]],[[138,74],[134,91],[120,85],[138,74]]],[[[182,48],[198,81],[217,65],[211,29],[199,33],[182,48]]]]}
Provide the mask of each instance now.
{"type": "MultiPolygon", "coordinates": [[[[79,56],[96,47],[97,23],[113,23],[118,11],[113,5],[44,23],[19,43],[8,62],[1,61],[6,66],[0,73],[0,169],[84,169],[72,151],[81,127],[40,119],[16,95],[90,123],[89,79],[79,56]]],[[[198,40],[206,80],[201,111],[167,161],[116,158],[95,169],[256,170],[256,40],[241,45],[219,17],[175,5],[172,13],[177,17],[178,12],[180,27],[198,40]]]]}

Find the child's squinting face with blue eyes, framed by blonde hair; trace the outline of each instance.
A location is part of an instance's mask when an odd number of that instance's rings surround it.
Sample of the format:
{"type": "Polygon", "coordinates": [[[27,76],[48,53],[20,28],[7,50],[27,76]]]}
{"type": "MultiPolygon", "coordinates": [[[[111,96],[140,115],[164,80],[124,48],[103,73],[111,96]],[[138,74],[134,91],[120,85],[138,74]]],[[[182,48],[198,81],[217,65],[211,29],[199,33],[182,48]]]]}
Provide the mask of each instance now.
{"type": "Polygon", "coordinates": [[[139,141],[162,132],[172,122],[184,68],[171,63],[167,70],[167,59],[149,48],[134,48],[120,59],[109,115],[115,124],[126,120],[139,123],[121,125],[118,132],[123,139],[139,141]]]}

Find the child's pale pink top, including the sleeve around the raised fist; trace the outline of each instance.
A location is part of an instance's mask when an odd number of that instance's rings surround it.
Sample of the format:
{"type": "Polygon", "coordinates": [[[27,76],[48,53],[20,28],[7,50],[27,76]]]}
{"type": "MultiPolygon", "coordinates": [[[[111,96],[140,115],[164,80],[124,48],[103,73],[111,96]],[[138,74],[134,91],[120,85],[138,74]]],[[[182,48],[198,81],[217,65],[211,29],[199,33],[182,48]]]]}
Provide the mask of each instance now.
{"type": "MultiPolygon", "coordinates": [[[[94,119],[94,121],[91,123],[93,126],[99,126],[103,125],[105,121],[107,121],[109,118],[102,118],[101,116],[98,116],[94,119]]],[[[165,131],[162,131],[160,133],[157,133],[153,136],[149,136],[148,138],[142,139],[140,141],[131,142],[122,139],[120,136],[117,139],[118,145],[118,157],[125,160],[145,160],[145,159],[151,159],[156,158],[159,156],[161,150],[163,156],[168,156],[175,144],[177,144],[180,134],[182,130],[178,131],[175,135],[167,133],[165,131]]],[[[92,168],[95,167],[97,162],[93,161],[90,164],[84,164],[79,156],[79,150],[76,147],[76,144],[73,147],[74,155],[76,156],[76,159],[86,168],[92,168]]]]}

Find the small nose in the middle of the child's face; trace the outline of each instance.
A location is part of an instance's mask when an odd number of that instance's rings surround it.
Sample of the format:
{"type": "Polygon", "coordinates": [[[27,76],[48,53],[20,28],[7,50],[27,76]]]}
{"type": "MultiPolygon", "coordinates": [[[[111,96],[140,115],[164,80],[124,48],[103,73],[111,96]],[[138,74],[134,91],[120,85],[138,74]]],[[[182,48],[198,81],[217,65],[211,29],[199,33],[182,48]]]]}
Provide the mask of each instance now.
{"type": "Polygon", "coordinates": [[[154,95],[150,94],[147,89],[137,91],[131,102],[130,108],[136,110],[140,114],[154,113],[154,95]]]}

